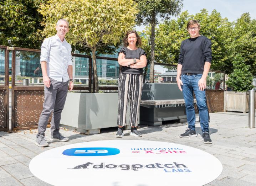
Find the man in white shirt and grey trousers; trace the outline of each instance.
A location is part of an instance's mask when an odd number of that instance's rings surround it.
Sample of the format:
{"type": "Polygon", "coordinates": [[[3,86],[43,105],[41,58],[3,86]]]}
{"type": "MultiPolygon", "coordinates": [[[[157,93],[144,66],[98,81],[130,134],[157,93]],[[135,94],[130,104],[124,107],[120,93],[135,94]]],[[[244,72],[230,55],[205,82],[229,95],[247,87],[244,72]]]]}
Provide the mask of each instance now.
{"type": "Polygon", "coordinates": [[[69,80],[69,88],[73,89],[73,69],[71,45],[67,43],[65,35],[69,30],[67,20],[60,19],[56,24],[57,34],[46,38],[41,46],[41,68],[43,84],[45,85],[45,102],[38,122],[36,145],[48,146],[45,138],[46,126],[52,113],[51,141],[68,141],[60,134],[61,111],[63,110],[69,80]]]}

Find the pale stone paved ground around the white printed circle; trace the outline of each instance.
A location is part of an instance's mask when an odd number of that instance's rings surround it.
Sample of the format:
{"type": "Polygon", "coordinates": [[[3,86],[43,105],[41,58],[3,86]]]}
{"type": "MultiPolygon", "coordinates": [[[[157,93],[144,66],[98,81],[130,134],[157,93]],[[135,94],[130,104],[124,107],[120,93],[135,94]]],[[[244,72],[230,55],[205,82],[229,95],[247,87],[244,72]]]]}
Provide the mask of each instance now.
{"type": "MultiPolygon", "coordinates": [[[[213,154],[221,161],[223,171],[208,185],[256,185],[256,128],[248,128],[248,113],[210,113],[210,118],[210,134],[213,140],[210,145],[202,142],[199,123],[196,124],[196,129],[200,135],[196,138],[179,138],[179,134],[183,133],[187,126],[172,127],[171,124],[166,124],[159,127],[140,126],[143,137],[136,140],[178,143],[213,154]]],[[[135,139],[128,135],[129,131],[124,132],[123,138],[115,138],[116,129],[102,129],[101,134],[94,135],[61,129],[61,133],[70,137],[70,141],[50,143],[50,147],[46,148],[39,148],[34,144],[36,130],[0,132],[0,185],[49,185],[37,179],[29,170],[30,160],[46,150],[95,140],[135,139]]],[[[46,138],[50,139],[49,129],[46,131],[46,138]]]]}

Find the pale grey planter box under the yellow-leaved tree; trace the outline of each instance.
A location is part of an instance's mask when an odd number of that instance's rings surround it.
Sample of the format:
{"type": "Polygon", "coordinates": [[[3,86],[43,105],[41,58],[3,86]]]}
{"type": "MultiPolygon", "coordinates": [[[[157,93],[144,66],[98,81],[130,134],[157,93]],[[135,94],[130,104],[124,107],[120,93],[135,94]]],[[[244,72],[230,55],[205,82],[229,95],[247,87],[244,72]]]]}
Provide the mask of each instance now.
{"type": "MultiPolygon", "coordinates": [[[[61,127],[86,134],[117,127],[118,93],[68,92],[61,114],[61,127]]],[[[129,107],[126,123],[129,121],[129,107]]]]}

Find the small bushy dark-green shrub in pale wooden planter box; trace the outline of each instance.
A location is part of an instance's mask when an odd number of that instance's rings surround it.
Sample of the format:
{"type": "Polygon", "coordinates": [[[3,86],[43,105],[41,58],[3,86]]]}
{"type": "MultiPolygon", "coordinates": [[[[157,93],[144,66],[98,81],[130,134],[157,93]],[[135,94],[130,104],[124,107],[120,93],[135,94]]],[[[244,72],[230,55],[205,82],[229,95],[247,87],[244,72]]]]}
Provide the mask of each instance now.
{"type": "Polygon", "coordinates": [[[233,91],[226,91],[224,111],[249,111],[249,93],[248,90],[252,89],[253,76],[250,72],[250,65],[246,65],[244,58],[240,54],[235,56],[233,65],[234,70],[229,75],[227,86],[233,91]]]}

